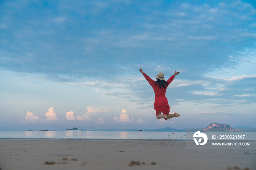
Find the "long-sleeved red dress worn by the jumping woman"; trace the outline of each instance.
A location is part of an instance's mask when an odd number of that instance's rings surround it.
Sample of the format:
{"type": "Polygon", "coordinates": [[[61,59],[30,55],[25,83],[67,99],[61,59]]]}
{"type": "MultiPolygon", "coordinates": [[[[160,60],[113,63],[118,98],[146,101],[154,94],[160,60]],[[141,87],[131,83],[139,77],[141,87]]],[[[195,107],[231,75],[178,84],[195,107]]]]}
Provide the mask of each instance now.
{"type": "MultiPolygon", "coordinates": [[[[170,112],[170,106],[168,104],[167,98],[165,97],[165,91],[166,89],[160,87],[158,83],[155,84],[156,81],[152,80],[146,73],[143,73],[143,76],[146,78],[148,83],[153,87],[155,92],[155,106],[154,109],[156,112],[158,110],[162,112],[163,114],[168,115],[170,112]]],[[[173,81],[174,75],[167,80],[168,85],[173,81]]],[[[168,87],[166,86],[166,88],[168,87]]]]}

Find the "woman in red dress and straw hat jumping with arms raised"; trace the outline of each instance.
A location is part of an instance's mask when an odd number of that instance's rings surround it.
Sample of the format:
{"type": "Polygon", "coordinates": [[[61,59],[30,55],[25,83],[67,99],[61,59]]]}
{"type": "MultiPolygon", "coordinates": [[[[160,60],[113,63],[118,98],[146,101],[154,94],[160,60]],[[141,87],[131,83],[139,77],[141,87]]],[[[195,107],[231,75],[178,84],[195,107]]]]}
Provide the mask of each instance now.
{"type": "Polygon", "coordinates": [[[165,81],[165,74],[158,73],[157,81],[152,80],[146,73],[143,72],[142,68],[140,69],[140,73],[146,78],[148,83],[153,87],[155,92],[155,111],[157,112],[157,119],[170,119],[172,117],[179,117],[180,115],[177,113],[169,114],[170,113],[170,106],[168,104],[167,98],[165,97],[165,91],[168,85],[173,81],[174,77],[177,76],[180,72],[174,72],[174,75],[169,78],[169,80],[165,81]],[[163,115],[162,115],[163,113],[163,115]]]}

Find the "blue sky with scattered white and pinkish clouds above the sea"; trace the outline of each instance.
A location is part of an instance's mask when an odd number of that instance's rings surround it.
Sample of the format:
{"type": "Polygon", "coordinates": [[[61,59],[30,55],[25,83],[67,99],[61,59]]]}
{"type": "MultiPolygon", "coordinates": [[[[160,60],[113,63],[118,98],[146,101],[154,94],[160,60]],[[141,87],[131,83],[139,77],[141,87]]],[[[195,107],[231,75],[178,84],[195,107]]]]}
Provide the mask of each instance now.
{"type": "Polygon", "coordinates": [[[255,128],[254,1],[0,1],[1,130],[255,128]],[[158,120],[151,78],[180,74],[158,120]]]}

